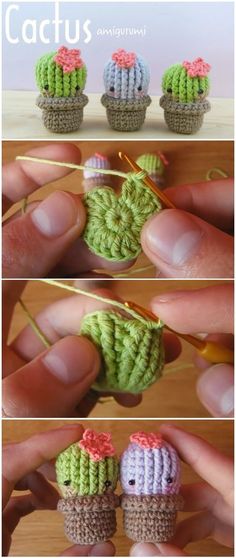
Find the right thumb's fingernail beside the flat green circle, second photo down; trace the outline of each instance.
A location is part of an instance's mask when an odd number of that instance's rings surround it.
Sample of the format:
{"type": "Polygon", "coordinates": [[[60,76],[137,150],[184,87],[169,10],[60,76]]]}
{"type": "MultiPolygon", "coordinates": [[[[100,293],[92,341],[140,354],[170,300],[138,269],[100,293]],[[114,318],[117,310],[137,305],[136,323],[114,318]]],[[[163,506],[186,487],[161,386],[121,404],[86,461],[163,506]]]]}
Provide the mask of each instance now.
{"type": "Polygon", "coordinates": [[[194,218],[176,209],[166,209],[146,225],[147,248],[170,265],[190,259],[201,244],[203,231],[194,218]]]}

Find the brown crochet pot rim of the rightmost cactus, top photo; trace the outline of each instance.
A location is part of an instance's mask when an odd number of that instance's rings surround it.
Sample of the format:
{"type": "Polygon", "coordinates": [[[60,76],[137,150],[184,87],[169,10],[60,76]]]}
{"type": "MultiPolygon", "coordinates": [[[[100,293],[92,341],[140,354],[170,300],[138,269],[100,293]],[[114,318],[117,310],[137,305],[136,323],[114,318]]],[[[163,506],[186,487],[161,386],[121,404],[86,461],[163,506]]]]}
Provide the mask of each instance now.
{"type": "Polygon", "coordinates": [[[184,114],[186,116],[198,116],[211,110],[211,104],[208,99],[182,103],[181,101],[175,101],[166,94],[160,98],[160,106],[167,112],[184,114]]]}

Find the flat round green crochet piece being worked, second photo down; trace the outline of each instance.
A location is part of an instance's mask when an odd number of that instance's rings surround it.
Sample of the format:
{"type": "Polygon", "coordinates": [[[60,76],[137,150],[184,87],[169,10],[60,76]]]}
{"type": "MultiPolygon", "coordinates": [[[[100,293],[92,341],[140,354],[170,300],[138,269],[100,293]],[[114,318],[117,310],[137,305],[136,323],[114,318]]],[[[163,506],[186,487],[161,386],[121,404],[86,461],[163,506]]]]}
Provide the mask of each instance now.
{"type": "Polygon", "coordinates": [[[112,188],[94,188],[84,195],[87,224],[83,238],[91,252],[110,261],[128,261],[141,252],[141,230],[161,210],[153,192],[134,173],[117,196],[112,188]]]}

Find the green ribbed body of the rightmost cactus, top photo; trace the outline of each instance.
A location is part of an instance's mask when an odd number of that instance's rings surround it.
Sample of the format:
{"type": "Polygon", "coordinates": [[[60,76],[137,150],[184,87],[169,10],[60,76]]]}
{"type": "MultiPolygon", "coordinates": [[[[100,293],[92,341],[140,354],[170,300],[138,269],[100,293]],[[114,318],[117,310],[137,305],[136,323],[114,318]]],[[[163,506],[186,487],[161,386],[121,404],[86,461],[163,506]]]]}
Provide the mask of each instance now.
{"type": "Polygon", "coordinates": [[[181,103],[192,103],[204,99],[209,92],[209,78],[190,77],[182,64],[170,66],[162,78],[163,93],[181,103]],[[199,91],[202,91],[199,94],[199,91]]]}

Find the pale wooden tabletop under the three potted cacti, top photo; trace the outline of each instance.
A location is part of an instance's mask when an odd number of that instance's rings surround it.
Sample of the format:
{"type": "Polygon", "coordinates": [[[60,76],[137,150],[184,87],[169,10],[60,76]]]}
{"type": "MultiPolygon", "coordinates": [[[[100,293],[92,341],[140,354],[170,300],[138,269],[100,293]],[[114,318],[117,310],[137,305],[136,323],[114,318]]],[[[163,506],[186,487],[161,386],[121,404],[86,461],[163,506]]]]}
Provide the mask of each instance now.
{"type": "MultiPolygon", "coordinates": [[[[176,139],[189,138],[171,132],[164,121],[159,97],[152,96],[152,104],[147,109],[146,120],[137,132],[116,132],[106,119],[105,108],[101,105],[101,95],[88,94],[89,103],[84,109],[84,120],[77,132],[54,134],[42,123],[41,110],[36,107],[35,91],[3,91],[3,138],[4,139],[176,139]]],[[[204,124],[192,138],[233,139],[234,102],[233,99],[210,99],[211,111],[204,115],[204,124]]]]}

